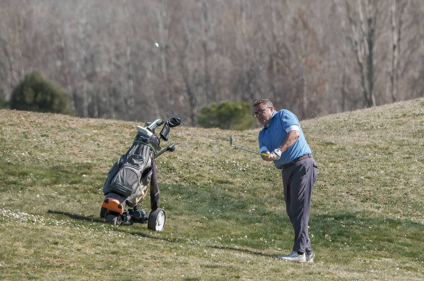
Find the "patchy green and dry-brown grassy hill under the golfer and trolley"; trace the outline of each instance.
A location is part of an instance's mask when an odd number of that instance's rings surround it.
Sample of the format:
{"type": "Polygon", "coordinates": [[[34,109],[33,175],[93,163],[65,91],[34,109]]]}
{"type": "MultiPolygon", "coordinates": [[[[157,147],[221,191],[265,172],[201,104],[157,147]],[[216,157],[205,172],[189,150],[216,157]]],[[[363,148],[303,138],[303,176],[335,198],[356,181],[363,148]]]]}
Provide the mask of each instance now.
{"type": "Polygon", "coordinates": [[[156,160],[165,230],[106,225],[101,188],[137,125],[0,110],[1,279],[424,278],[423,99],[301,122],[314,264],[275,259],[293,246],[281,172],[228,139],[257,150],[259,129],[173,128],[156,160]]]}

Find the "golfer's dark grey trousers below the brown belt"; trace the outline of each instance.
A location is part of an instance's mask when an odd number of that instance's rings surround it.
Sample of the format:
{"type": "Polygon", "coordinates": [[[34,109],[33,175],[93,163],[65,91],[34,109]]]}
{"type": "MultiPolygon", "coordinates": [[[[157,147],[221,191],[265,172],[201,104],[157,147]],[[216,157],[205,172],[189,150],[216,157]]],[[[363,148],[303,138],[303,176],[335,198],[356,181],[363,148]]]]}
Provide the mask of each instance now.
{"type": "Polygon", "coordinates": [[[282,171],[286,211],[294,230],[293,251],[312,253],[308,235],[312,186],[317,177],[314,158],[306,158],[282,171]]]}

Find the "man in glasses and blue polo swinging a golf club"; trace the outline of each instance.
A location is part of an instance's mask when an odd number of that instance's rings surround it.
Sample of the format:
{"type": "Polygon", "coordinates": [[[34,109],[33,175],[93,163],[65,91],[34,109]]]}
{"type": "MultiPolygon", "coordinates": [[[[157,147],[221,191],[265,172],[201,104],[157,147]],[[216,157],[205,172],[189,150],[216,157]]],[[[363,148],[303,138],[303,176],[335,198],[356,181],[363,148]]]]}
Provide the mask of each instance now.
{"type": "Polygon", "coordinates": [[[277,259],[294,262],[314,260],[308,235],[312,185],[317,177],[317,165],[311,155],[296,115],[289,110],[276,111],[268,99],[254,103],[253,116],[264,125],[258,140],[265,161],[274,161],[282,169],[287,215],[293,225],[294,246],[290,254],[277,259]]]}

